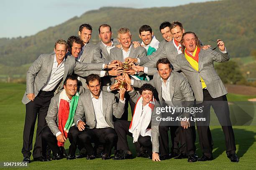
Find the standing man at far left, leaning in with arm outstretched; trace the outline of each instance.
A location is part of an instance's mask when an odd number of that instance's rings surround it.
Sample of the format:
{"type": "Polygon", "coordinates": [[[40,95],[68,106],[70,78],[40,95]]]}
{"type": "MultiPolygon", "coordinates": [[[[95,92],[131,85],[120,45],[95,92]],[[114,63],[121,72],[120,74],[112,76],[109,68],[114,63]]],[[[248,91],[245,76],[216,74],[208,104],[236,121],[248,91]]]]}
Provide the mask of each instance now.
{"type": "Polygon", "coordinates": [[[52,54],[43,54],[33,62],[27,72],[26,92],[22,102],[26,105],[26,118],[23,131],[23,162],[30,163],[30,156],[33,144],[33,133],[38,117],[36,142],[33,150],[33,158],[37,161],[44,161],[42,155],[41,133],[46,127],[46,114],[54,96],[54,91],[68,75],[73,72],[80,76],[85,76],[87,70],[102,70],[105,68],[115,68],[115,65],[108,64],[87,64],[80,63],[74,57],[67,55],[67,42],[57,40],[52,54]]]}

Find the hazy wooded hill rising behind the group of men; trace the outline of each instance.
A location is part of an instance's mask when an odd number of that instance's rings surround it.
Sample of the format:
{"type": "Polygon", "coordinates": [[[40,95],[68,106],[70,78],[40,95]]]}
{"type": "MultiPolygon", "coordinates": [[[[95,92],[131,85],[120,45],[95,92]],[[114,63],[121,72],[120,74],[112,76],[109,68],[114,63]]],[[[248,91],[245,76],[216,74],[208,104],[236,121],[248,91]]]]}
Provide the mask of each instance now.
{"type": "Polygon", "coordinates": [[[77,35],[78,27],[82,23],[92,25],[92,42],[95,43],[99,41],[98,26],[103,23],[112,26],[113,37],[116,36],[116,31],[120,27],[130,28],[133,40],[139,40],[138,28],[141,25],[151,25],[156,37],[162,40],[159,25],[165,20],[181,21],[185,30],[196,32],[205,44],[210,43],[208,39],[221,38],[226,43],[232,57],[244,57],[250,55],[256,46],[254,41],[255,6],[254,0],[222,0],[178,7],[145,9],[102,7],[99,10],[88,11],[80,17],[71,18],[60,25],[47,28],[33,36],[1,38],[0,63],[6,66],[31,63],[41,53],[52,52],[57,39],[67,40],[70,35],[77,35]]]}

